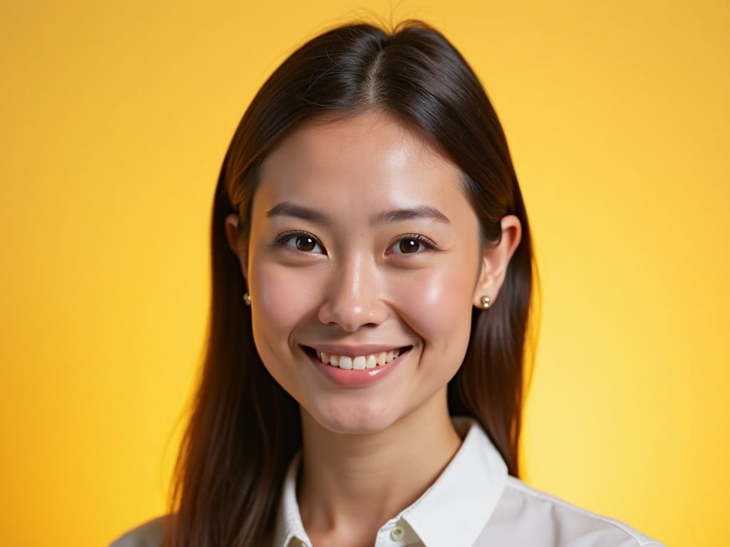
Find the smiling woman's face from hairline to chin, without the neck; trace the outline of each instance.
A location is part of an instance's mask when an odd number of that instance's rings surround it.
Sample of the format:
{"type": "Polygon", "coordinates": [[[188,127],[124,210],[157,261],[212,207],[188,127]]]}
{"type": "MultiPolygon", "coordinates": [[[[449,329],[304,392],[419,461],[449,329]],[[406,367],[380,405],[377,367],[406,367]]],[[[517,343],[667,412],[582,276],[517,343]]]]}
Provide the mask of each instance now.
{"type": "Polygon", "coordinates": [[[301,126],[266,158],[239,257],[261,359],[323,427],[446,411],[495,287],[458,168],[424,139],[379,113],[301,126]]]}

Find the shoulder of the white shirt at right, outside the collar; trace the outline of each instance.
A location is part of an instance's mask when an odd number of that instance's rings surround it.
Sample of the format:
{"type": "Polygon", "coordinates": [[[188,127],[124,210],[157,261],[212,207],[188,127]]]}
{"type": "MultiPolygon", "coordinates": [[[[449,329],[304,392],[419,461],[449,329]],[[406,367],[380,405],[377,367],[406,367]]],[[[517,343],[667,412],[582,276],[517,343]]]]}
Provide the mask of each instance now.
{"type": "MultiPolygon", "coordinates": [[[[523,535],[520,545],[550,547],[661,547],[621,521],[585,511],[508,477],[487,528],[523,535]],[[520,532],[521,530],[521,532],[520,532]]],[[[486,530],[485,530],[486,531],[486,530]]]]}

